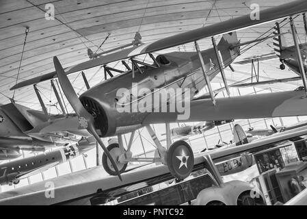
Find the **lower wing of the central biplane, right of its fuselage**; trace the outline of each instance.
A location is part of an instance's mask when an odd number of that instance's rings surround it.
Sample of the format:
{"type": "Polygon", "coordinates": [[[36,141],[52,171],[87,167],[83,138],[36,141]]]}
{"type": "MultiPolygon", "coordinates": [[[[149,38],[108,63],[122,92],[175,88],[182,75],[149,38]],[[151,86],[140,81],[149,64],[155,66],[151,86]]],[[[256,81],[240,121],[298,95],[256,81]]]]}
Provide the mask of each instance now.
{"type": "Polygon", "coordinates": [[[304,91],[286,91],[219,98],[216,99],[216,105],[210,99],[203,99],[191,101],[185,113],[190,114],[187,120],[178,120],[177,116],[183,113],[152,112],[144,118],[142,124],[306,116],[307,98],[304,91]]]}

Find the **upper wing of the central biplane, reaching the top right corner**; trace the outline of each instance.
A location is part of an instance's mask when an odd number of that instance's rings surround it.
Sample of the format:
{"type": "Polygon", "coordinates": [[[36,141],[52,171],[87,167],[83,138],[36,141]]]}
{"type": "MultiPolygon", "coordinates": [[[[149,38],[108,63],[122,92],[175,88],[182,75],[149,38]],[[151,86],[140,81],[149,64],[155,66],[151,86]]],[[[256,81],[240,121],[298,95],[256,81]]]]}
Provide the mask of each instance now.
{"type": "MultiPolygon", "coordinates": [[[[83,62],[75,66],[65,68],[64,70],[68,75],[88,68],[94,68],[95,66],[101,66],[103,64],[108,64],[110,62],[124,60],[126,58],[134,57],[136,55],[142,55],[144,53],[152,53],[162,49],[176,47],[178,45],[185,44],[187,42],[200,40],[201,38],[226,34],[230,31],[235,31],[246,27],[258,25],[261,23],[274,21],[279,18],[284,18],[286,16],[291,16],[293,14],[298,14],[305,11],[307,11],[307,1],[305,0],[292,1],[291,3],[286,3],[283,5],[279,5],[277,7],[272,7],[267,10],[261,11],[259,20],[256,19],[252,20],[250,14],[247,14],[245,16],[240,16],[238,18],[230,19],[228,21],[224,21],[221,23],[215,23],[207,27],[201,27],[198,29],[193,29],[191,31],[186,31],[185,33],[182,34],[176,34],[174,36],[163,38],[161,40],[157,40],[152,43],[142,44],[139,47],[133,47],[130,49],[125,49],[123,51],[118,51],[116,53],[111,53],[109,55],[98,57],[95,60],[89,60],[87,62],[83,62]]],[[[10,88],[10,90],[22,88],[24,86],[28,86],[34,83],[39,83],[40,81],[53,79],[55,77],[57,77],[57,74],[55,72],[46,75],[41,75],[39,77],[35,77],[27,81],[22,81],[21,83],[17,83],[15,86],[10,88]]]]}

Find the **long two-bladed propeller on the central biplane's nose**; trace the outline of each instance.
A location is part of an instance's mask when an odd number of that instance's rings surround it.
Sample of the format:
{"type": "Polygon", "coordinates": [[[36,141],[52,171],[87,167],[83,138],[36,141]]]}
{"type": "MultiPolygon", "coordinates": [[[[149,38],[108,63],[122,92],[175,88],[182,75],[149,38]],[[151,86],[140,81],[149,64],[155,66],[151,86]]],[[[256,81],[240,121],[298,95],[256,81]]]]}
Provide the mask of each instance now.
{"type": "Polygon", "coordinates": [[[57,72],[57,77],[59,78],[59,84],[61,85],[62,90],[63,90],[68,102],[70,103],[72,109],[75,110],[75,113],[77,114],[77,116],[79,116],[79,118],[82,118],[82,117],[85,118],[85,120],[87,122],[87,124],[85,124],[85,128],[88,129],[88,131],[90,133],[92,133],[92,135],[94,136],[96,141],[100,144],[103,151],[105,151],[105,154],[107,155],[107,157],[111,161],[112,165],[114,166],[114,170],[116,171],[118,178],[120,178],[120,180],[122,181],[122,177],[120,176],[120,171],[118,170],[116,162],[114,161],[113,157],[111,156],[111,154],[109,153],[109,151],[105,147],[105,144],[103,144],[103,141],[101,140],[98,133],[96,133],[96,129],[94,127],[93,116],[91,114],[89,114],[88,111],[86,111],[85,108],[83,107],[81,101],[79,100],[79,97],[77,96],[74,88],[72,88],[72,85],[71,85],[64,69],[62,68],[62,65],[59,63],[59,60],[57,59],[56,56],[53,57],[53,62],[54,62],[54,65],[55,65],[55,71],[57,72]]]}

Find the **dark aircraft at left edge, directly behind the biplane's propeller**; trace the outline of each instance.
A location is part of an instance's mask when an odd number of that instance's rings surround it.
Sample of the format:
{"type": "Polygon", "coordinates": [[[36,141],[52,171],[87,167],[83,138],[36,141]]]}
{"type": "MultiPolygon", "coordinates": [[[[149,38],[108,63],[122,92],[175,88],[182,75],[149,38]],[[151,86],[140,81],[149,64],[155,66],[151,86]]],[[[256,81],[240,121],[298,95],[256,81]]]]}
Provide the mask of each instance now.
{"type": "Polygon", "coordinates": [[[88,144],[91,144],[93,140],[88,131],[70,129],[73,120],[78,120],[73,114],[69,117],[44,114],[17,103],[1,105],[0,160],[20,157],[21,150],[45,151],[55,146],[78,144],[84,139],[88,139],[88,144]],[[54,125],[59,127],[49,131],[54,125]]]}

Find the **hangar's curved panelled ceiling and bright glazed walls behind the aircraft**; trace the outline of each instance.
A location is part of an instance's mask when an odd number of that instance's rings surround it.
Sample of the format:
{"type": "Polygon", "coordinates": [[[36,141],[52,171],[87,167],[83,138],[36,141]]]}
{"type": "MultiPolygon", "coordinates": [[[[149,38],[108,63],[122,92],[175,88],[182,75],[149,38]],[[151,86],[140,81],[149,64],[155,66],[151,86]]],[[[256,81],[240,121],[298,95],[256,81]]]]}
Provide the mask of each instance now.
{"type": "MultiPolygon", "coordinates": [[[[79,64],[89,60],[88,49],[92,51],[104,52],[114,47],[129,44],[138,32],[142,36],[142,42],[155,42],[175,34],[181,34],[200,27],[208,27],[215,23],[228,21],[251,12],[250,5],[256,3],[261,5],[261,10],[273,8],[292,0],[1,0],[0,6],[0,103],[5,105],[12,99],[14,103],[24,105],[33,110],[42,111],[36,92],[33,86],[26,86],[16,90],[10,90],[12,86],[21,81],[26,81],[55,70],[53,57],[57,56],[64,68],[79,64]],[[54,19],[45,17],[46,5],[54,6],[54,19]],[[27,32],[26,27],[29,27],[27,32]]],[[[282,21],[282,19],[278,20],[282,21]]],[[[276,21],[248,27],[237,31],[240,42],[247,42],[258,39],[273,33],[273,26],[276,21]]],[[[306,32],[301,16],[295,18],[295,27],[299,43],[306,42],[306,32]]],[[[291,26],[286,23],[282,26],[282,32],[287,46],[293,45],[291,26]]],[[[221,36],[216,36],[218,42],[221,36]]],[[[211,38],[198,40],[200,49],[212,47],[211,38]]],[[[178,45],[176,47],[155,51],[152,54],[157,56],[170,52],[195,52],[193,42],[178,45]]],[[[273,54],[273,40],[271,38],[257,42],[256,44],[241,47],[241,55],[235,62],[248,60],[263,54],[273,54]]],[[[139,55],[138,60],[152,63],[149,55],[139,55]]],[[[127,59],[126,62],[130,64],[127,59]]],[[[118,62],[108,64],[110,68],[125,70],[124,66],[118,62]]],[[[284,79],[296,77],[293,70],[286,67],[280,69],[280,60],[255,61],[252,64],[233,64],[232,71],[225,68],[226,80],[229,84],[244,81],[268,81],[273,79],[284,79]],[[254,74],[254,75],[252,75],[254,74]],[[258,77],[258,78],[257,78],[258,77]]],[[[97,66],[84,70],[90,87],[95,86],[105,80],[103,66],[97,66]]],[[[112,72],[113,73],[113,72],[112,72]]],[[[120,73],[114,73],[114,76],[120,73]]],[[[109,75],[107,75],[109,77],[109,75]]],[[[75,92],[81,95],[85,92],[86,86],[81,77],[81,71],[68,75],[75,92]]],[[[57,88],[62,95],[59,84],[57,88]]],[[[224,87],[221,75],[217,75],[212,81],[213,90],[224,87]]],[[[251,94],[266,94],[295,90],[304,86],[302,80],[286,81],[282,83],[271,83],[251,86],[248,88],[230,88],[230,96],[245,96],[251,94]]],[[[38,92],[46,106],[49,114],[62,114],[61,107],[50,81],[42,81],[36,85],[38,92]]],[[[205,87],[200,91],[205,94],[209,90],[205,87]]],[[[225,90],[219,92],[216,98],[225,97],[225,90]]],[[[62,100],[67,113],[74,113],[68,103],[66,96],[62,95],[62,100]]],[[[206,112],[204,112],[205,114],[206,112]]],[[[233,141],[233,128],[235,124],[241,125],[243,130],[250,127],[254,129],[270,129],[274,127],[286,127],[295,125],[307,119],[307,116],[289,116],[276,118],[250,118],[234,120],[225,125],[216,126],[204,133],[188,136],[187,142],[194,152],[203,149],[214,149],[221,142],[229,143],[233,141]]],[[[182,127],[183,125],[197,125],[198,123],[170,123],[170,128],[182,127]]],[[[1,126],[1,123],[0,123],[1,126]]],[[[152,125],[159,140],[165,146],[165,125],[152,125]]],[[[124,146],[128,146],[131,133],[123,135],[124,146]]],[[[107,144],[109,138],[103,138],[107,144]]],[[[143,127],[135,132],[133,147],[131,151],[137,156],[152,157],[155,152],[155,142],[150,138],[150,134],[143,127]]],[[[55,149],[40,151],[22,151],[22,156],[16,158],[24,159],[33,155],[39,155],[55,149]]],[[[0,192],[8,192],[22,188],[24,186],[53,179],[70,172],[77,172],[96,166],[96,148],[87,151],[84,155],[68,160],[63,164],[53,166],[43,172],[21,179],[18,184],[1,185],[0,192]]],[[[100,149],[100,153],[102,153],[100,149]]],[[[11,159],[1,161],[1,164],[11,162],[11,159]]],[[[255,171],[254,171],[255,172],[255,171]]],[[[253,171],[245,175],[235,174],[225,177],[230,181],[239,179],[243,181],[251,180],[255,177],[253,171]]],[[[107,172],[102,172],[107,176],[107,172]]]]}

